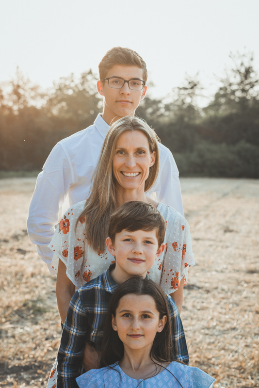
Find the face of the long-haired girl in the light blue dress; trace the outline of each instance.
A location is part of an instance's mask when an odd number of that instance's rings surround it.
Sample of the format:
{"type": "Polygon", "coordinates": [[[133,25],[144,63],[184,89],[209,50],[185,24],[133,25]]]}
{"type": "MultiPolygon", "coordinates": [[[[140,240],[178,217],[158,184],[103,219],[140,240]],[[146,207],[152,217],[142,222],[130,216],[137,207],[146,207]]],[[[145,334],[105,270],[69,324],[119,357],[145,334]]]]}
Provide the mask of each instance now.
{"type": "Polygon", "coordinates": [[[162,331],[166,320],[166,315],[160,319],[152,296],[127,294],[119,301],[112,326],[124,347],[151,349],[156,333],[162,331]]]}

